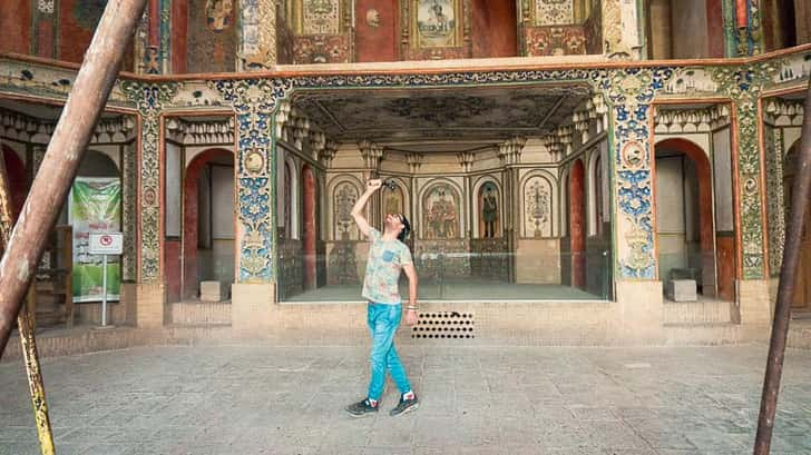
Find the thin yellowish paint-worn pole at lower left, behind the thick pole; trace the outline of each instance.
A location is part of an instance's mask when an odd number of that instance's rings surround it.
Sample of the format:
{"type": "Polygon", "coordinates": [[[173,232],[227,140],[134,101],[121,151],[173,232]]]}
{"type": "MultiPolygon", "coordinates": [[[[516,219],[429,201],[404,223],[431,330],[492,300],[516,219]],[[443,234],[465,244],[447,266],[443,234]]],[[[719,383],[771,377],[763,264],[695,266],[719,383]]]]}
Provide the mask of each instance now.
{"type": "MultiPolygon", "coordinates": [[[[11,188],[9,188],[9,179],[6,174],[3,151],[0,149],[0,251],[8,246],[13,221],[11,188]]],[[[32,287],[29,288],[29,296],[32,287]]],[[[31,393],[31,405],[33,406],[33,419],[37,424],[39,446],[42,455],[53,455],[53,434],[50,429],[48,404],[45,399],[45,385],[42,384],[42,375],[39,369],[37,344],[33,338],[33,318],[36,316],[37,314],[32,310],[31,306],[28,309],[19,311],[17,327],[20,330],[20,344],[22,345],[22,357],[26,360],[26,377],[28,377],[28,390],[31,393]]]]}

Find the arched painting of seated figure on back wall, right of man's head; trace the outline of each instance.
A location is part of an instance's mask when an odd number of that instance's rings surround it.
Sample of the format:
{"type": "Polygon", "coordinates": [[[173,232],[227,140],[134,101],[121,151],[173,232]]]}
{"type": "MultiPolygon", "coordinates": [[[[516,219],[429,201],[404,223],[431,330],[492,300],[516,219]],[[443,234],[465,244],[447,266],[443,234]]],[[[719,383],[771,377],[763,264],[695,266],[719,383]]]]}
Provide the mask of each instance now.
{"type": "Polygon", "coordinates": [[[422,197],[424,239],[463,237],[460,229],[459,194],[449,184],[436,184],[422,197]]]}

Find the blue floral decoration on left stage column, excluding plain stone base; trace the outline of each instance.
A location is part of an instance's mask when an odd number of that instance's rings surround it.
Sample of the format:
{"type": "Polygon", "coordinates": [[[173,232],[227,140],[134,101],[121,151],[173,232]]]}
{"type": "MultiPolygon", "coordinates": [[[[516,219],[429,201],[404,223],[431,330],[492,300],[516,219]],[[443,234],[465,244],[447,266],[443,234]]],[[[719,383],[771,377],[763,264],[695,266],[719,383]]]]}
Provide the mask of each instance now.
{"type": "Polygon", "coordinates": [[[237,127],[237,281],[276,279],[276,139],[274,115],[287,97],[286,79],[218,80],[212,86],[232,102],[237,127]]]}

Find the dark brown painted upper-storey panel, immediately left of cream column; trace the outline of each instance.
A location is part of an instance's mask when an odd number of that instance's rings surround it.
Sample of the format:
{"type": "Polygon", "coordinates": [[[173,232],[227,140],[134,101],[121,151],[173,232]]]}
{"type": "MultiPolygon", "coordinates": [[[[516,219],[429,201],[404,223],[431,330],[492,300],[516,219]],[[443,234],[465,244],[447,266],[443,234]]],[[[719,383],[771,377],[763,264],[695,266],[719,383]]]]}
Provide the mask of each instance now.
{"type": "Polygon", "coordinates": [[[233,0],[188,0],[188,72],[223,72],[236,68],[233,0]]]}

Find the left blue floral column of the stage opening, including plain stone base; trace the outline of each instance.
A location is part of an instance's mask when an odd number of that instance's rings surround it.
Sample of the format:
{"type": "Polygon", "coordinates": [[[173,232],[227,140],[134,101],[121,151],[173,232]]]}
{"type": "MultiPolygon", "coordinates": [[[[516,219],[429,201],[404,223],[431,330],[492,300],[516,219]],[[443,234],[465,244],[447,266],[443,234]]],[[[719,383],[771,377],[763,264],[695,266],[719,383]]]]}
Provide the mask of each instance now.
{"type": "Polygon", "coordinates": [[[236,283],[232,324],[236,329],[270,323],[277,281],[276,128],[280,101],[291,91],[286,79],[219,80],[212,86],[236,112],[236,283]]]}

